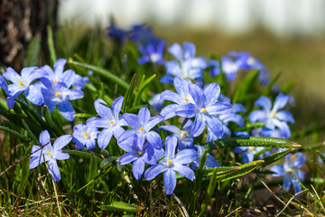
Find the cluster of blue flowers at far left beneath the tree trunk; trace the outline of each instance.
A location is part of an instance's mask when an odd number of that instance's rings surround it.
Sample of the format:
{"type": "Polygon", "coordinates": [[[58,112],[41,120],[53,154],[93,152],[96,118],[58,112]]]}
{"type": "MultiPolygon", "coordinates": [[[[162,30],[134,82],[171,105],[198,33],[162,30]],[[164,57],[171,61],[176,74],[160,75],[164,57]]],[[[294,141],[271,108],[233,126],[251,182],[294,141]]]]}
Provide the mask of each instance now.
{"type": "Polygon", "coordinates": [[[85,87],[85,82],[74,71],[64,71],[65,63],[65,59],[56,61],[54,71],[48,65],[42,68],[27,67],[21,74],[10,67],[7,68],[4,73],[5,79],[0,76],[0,85],[7,94],[8,108],[13,109],[14,99],[23,93],[23,96],[36,106],[47,106],[50,111],[58,107],[63,118],[72,121],[75,110],[70,100],[84,97],[80,89],[85,87]],[[10,84],[7,85],[5,80],[10,81],[10,84]],[[72,89],[72,86],[75,88],[72,89]]]}

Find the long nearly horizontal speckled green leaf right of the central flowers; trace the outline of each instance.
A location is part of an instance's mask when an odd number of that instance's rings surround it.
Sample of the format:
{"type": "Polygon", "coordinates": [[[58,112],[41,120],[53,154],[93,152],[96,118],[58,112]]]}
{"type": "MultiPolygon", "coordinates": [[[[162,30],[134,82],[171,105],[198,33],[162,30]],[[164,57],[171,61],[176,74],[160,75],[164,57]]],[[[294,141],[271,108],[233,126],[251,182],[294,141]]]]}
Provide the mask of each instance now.
{"type": "Polygon", "coordinates": [[[217,141],[210,142],[204,146],[213,148],[213,146],[219,147],[235,147],[235,146],[264,146],[264,147],[287,147],[298,148],[301,145],[285,140],[283,138],[274,137],[232,137],[222,138],[217,141]]]}

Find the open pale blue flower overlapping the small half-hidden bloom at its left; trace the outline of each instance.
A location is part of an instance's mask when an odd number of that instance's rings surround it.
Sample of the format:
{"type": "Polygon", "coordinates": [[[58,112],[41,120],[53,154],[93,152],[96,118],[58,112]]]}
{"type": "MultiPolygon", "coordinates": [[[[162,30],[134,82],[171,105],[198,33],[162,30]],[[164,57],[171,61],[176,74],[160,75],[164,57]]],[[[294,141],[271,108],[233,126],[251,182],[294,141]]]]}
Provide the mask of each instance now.
{"type": "Polygon", "coordinates": [[[118,139],[125,131],[122,126],[127,126],[127,124],[122,117],[119,117],[123,99],[123,97],[115,99],[112,103],[112,108],[108,108],[107,103],[103,99],[96,99],[94,103],[100,118],[88,118],[86,124],[87,127],[103,128],[98,134],[98,146],[100,148],[106,148],[113,135],[118,139]]]}

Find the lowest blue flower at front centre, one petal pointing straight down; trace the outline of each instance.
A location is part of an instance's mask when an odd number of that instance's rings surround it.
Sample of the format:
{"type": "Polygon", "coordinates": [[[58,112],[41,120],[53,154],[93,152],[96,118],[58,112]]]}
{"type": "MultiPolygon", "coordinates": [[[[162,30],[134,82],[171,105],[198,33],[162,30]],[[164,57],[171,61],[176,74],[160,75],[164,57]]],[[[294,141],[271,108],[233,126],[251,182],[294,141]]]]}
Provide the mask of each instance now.
{"type": "Polygon", "coordinates": [[[195,178],[194,172],[188,164],[195,160],[197,153],[193,149],[184,149],[175,155],[177,146],[176,137],[166,137],[166,154],[157,165],[148,168],[144,173],[146,180],[153,180],[157,175],[163,173],[163,186],[167,195],[171,194],[176,187],[176,172],[190,179],[195,178]]]}

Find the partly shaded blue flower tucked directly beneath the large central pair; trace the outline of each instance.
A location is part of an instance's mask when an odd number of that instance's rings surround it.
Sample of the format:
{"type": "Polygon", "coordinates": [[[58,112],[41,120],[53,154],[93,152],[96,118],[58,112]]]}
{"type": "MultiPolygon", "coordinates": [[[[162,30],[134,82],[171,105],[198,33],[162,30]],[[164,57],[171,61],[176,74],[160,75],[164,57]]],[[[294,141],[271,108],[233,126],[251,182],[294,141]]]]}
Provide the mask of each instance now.
{"type": "Polygon", "coordinates": [[[182,129],[173,126],[173,125],[164,125],[159,127],[160,129],[164,129],[166,131],[170,131],[173,133],[172,136],[177,137],[177,149],[182,150],[185,148],[189,148],[193,146],[194,138],[191,136],[191,127],[192,121],[189,119],[182,129]]]}

